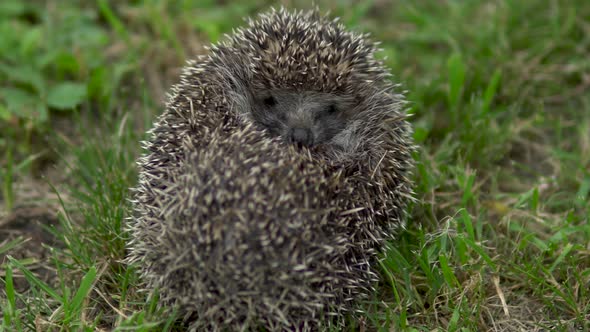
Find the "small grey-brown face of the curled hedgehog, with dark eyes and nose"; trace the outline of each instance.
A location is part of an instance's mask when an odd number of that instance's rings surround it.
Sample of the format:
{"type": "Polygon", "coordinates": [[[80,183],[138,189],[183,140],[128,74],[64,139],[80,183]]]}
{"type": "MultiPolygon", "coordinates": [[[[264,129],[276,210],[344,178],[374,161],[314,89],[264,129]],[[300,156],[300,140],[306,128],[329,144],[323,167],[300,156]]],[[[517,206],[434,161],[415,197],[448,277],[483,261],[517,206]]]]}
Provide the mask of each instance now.
{"type": "Polygon", "coordinates": [[[253,98],[252,119],[273,137],[297,146],[328,143],[346,128],[353,105],[330,93],[274,90],[253,98]]]}

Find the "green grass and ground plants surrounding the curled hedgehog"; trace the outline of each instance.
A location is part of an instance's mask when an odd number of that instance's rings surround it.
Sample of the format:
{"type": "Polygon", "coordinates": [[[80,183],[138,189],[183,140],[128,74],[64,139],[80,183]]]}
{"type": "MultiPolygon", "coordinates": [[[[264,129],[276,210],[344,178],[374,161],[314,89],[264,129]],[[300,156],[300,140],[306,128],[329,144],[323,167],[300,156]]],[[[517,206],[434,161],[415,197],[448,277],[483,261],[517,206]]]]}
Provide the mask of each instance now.
{"type": "MultiPolygon", "coordinates": [[[[0,3],[0,330],[180,328],[121,264],[138,142],[183,61],[269,3],[114,3],[0,3]]],[[[319,6],[383,42],[420,145],[351,330],[589,330],[590,3],[319,6]]]]}

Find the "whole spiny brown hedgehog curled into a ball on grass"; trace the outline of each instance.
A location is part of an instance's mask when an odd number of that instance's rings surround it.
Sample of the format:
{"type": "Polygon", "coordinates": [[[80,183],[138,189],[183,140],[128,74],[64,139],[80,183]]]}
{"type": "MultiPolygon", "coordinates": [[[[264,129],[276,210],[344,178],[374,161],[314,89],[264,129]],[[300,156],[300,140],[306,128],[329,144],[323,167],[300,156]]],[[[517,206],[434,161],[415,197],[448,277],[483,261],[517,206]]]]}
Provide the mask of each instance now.
{"type": "Polygon", "coordinates": [[[126,263],[190,330],[341,328],[374,294],[415,149],[377,50],[281,8],[188,62],[138,160],[126,263]]]}

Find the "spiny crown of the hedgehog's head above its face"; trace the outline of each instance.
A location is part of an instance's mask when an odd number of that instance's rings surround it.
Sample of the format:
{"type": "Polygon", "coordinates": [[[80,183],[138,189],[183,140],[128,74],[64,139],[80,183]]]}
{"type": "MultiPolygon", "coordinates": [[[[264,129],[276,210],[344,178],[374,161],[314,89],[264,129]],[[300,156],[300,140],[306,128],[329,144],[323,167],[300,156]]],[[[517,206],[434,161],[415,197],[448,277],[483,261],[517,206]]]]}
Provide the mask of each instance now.
{"type": "Polygon", "coordinates": [[[213,47],[211,60],[224,58],[226,52],[237,55],[242,61],[233,66],[246,65],[236,69],[246,69],[243,78],[254,90],[293,88],[354,95],[389,75],[374,58],[375,51],[366,35],[349,32],[317,11],[280,9],[250,20],[248,28],[238,29],[213,47]]]}

